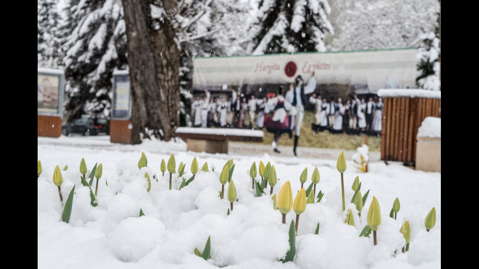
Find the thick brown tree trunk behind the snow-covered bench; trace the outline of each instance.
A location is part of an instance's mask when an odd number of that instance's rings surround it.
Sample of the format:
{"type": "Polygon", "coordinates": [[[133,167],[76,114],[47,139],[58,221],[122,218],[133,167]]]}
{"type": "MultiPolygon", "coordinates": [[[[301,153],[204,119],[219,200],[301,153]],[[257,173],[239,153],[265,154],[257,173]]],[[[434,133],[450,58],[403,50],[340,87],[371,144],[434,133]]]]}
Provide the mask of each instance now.
{"type": "MultiPolygon", "coordinates": [[[[166,12],[173,8],[173,0],[164,2],[166,12]]],[[[179,123],[179,50],[174,29],[166,18],[155,27],[158,22],[151,18],[150,1],[122,3],[132,96],[131,144],[141,144],[141,134],[150,138],[149,132],[169,141],[179,123]]]]}

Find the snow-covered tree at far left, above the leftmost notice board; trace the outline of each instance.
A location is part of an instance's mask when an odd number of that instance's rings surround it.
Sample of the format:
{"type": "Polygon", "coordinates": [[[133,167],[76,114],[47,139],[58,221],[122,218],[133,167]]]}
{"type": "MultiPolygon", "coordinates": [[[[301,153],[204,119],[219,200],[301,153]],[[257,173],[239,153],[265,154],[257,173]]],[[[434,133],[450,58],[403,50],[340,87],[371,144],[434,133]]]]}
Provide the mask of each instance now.
{"type": "Polygon", "coordinates": [[[57,38],[61,17],[57,9],[58,0],[37,0],[37,65],[58,67],[60,64],[57,38]]]}

